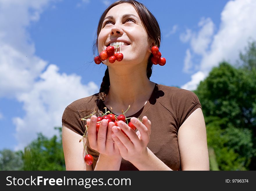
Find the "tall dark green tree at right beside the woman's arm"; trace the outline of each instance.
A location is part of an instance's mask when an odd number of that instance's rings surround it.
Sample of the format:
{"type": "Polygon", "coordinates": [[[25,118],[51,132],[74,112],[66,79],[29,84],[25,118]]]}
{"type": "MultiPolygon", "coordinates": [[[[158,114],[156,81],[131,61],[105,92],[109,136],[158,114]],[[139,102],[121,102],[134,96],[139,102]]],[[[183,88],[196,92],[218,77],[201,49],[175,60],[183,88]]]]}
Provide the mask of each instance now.
{"type": "Polygon", "coordinates": [[[227,62],[214,67],[197,90],[221,170],[255,170],[256,72],[227,62]]]}

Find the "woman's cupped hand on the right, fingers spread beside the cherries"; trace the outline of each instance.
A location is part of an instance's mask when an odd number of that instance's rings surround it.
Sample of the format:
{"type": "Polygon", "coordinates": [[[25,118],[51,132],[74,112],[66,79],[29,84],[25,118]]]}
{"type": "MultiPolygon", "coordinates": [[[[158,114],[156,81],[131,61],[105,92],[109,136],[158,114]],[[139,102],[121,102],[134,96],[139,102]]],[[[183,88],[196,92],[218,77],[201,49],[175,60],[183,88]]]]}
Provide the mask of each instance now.
{"type": "Polygon", "coordinates": [[[136,117],[131,118],[132,124],[138,129],[135,133],[125,122],[119,121],[118,126],[112,127],[112,138],[117,145],[120,155],[131,163],[143,160],[147,157],[147,144],[150,139],[151,122],[146,116],[142,122],[136,117]],[[122,133],[121,129],[126,133],[122,133]]]}

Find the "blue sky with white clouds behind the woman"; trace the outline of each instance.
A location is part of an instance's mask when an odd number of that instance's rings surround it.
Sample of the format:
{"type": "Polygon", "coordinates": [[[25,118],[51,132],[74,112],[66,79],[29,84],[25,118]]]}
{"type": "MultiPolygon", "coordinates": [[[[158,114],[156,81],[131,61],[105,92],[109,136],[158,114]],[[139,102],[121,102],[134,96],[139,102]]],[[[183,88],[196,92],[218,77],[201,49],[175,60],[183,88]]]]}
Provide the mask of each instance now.
{"type": "MultiPolygon", "coordinates": [[[[0,149],[23,149],[37,132],[52,136],[72,101],[98,92],[106,67],[92,45],[113,1],[0,0],[0,149]]],[[[235,64],[256,39],[253,0],[143,0],[162,32],[167,62],[151,81],[194,90],[222,60],[235,64]]]]}

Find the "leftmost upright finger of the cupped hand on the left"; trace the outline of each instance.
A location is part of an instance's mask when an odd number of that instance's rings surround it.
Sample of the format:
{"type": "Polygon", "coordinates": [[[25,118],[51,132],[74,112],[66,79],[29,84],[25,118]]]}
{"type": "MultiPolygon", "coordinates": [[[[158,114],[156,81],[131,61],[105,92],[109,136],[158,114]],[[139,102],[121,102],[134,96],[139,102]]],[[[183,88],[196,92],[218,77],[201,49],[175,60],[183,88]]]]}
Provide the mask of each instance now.
{"type": "Polygon", "coordinates": [[[89,124],[87,125],[88,141],[92,149],[97,149],[96,121],[97,117],[95,115],[93,115],[91,119],[87,119],[86,121],[86,124],[89,124]]]}

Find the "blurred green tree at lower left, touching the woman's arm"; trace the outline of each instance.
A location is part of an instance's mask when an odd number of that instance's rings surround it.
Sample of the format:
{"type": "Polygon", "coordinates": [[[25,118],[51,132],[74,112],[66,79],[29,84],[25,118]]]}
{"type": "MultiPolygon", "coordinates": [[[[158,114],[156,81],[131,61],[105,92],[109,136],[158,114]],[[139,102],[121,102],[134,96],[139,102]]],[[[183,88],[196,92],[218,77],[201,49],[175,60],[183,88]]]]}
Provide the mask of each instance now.
{"type": "MultiPolygon", "coordinates": [[[[61,134],[61,128],[58,128],[61,134]]],[[[47,138],[42,133],[25,147],[24,170],[65,170],[61,135],[47,138]]]]}

